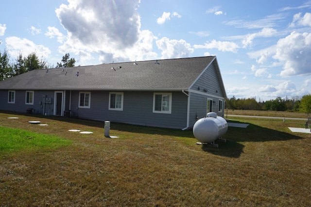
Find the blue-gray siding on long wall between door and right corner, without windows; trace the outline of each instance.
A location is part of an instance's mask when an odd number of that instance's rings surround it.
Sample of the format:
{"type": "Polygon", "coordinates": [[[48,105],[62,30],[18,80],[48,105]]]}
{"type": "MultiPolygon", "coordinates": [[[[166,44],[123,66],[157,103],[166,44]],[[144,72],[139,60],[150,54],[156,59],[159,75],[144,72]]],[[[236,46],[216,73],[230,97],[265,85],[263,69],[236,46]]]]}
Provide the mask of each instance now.
{"type": "MultiPolygon", "coordinates": [[[[114,91],[111,91],[114,92],[114,91]]],[[[74,117],[97,121],[122,122],[145,126],[185,128],[187,96],[172,93],[172,113],[153,113],[153,92],[123,92],[123,110],[109,110],[109,91],[91,91],[90,108],[79,108],[79,91],[71,91],[71,112],[74,117]]]]}

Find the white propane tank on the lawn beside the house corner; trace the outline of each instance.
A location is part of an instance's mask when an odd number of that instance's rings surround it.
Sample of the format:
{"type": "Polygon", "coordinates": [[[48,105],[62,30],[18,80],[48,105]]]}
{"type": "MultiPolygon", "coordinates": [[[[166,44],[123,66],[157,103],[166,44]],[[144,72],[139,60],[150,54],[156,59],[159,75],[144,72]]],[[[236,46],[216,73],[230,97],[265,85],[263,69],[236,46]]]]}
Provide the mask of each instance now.
{"type": "Polygon", "coordinates": [[[210,143],[222,137],[228,130],[228,123],[215,112],[207,113],[206,118],[199,119],[193,125],[193,135],[202,143],[210,143]]]}

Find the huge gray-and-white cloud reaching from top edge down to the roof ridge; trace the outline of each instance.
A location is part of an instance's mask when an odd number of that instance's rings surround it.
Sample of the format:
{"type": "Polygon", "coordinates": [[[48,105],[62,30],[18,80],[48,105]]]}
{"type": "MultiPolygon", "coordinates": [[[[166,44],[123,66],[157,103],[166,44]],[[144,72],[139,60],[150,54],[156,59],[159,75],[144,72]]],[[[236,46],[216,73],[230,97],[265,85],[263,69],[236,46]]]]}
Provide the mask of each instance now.
{"type": "MultiPolygon", "coordinates": [[[[59,47],[60,53],[73,52],[82,62],[99,54],[101,62],[134,61],[156,58],[153,41],[156,37],[148,30],[140,31],[137,8],[140,0],[68,0],[55,10],[67,39],[59,47]]],[[[174,14],[178,17],[178,14],[174,14]]],[[[61,37],[58,31],[46,34],[61,37]]]]}

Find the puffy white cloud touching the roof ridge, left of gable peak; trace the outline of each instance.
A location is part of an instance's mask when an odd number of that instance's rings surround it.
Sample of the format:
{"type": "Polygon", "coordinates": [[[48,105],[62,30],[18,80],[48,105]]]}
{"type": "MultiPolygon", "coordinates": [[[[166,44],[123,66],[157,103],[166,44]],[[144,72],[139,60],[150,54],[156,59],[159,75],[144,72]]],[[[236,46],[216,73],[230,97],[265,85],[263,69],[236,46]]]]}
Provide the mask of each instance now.
{"type": "Polygon", "coordinates": [[[162,50],[161,58],[163,59],[189,57],[194,51],[191,45],[183,39],[170,40],[167,37],[163,37],[156,40],[156,45],[158,49],[162,50]]]}

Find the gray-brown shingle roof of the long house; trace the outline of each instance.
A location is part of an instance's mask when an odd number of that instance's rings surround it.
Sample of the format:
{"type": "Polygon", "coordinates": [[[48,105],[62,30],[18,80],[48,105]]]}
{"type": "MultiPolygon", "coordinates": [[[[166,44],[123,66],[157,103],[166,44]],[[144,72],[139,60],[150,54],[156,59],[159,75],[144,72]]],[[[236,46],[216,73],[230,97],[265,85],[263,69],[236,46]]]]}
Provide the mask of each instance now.
{"type": "MultiPolygon", "coordinates": [[[[4,81],[0,89],[169,90],[188,89],[215,56],[36,69],[4,81]],[[114,68],[114,69],[112,69],[114,68]],[[66,73],[67,71],[67,73],[66,73]],[[79,72],[79,76],[76,76],[79,72]]],[[[219,69],[218,69],[219,70],[219,69]]],[[[220,74],[219,74],[220,75],[220,74]]]]}

